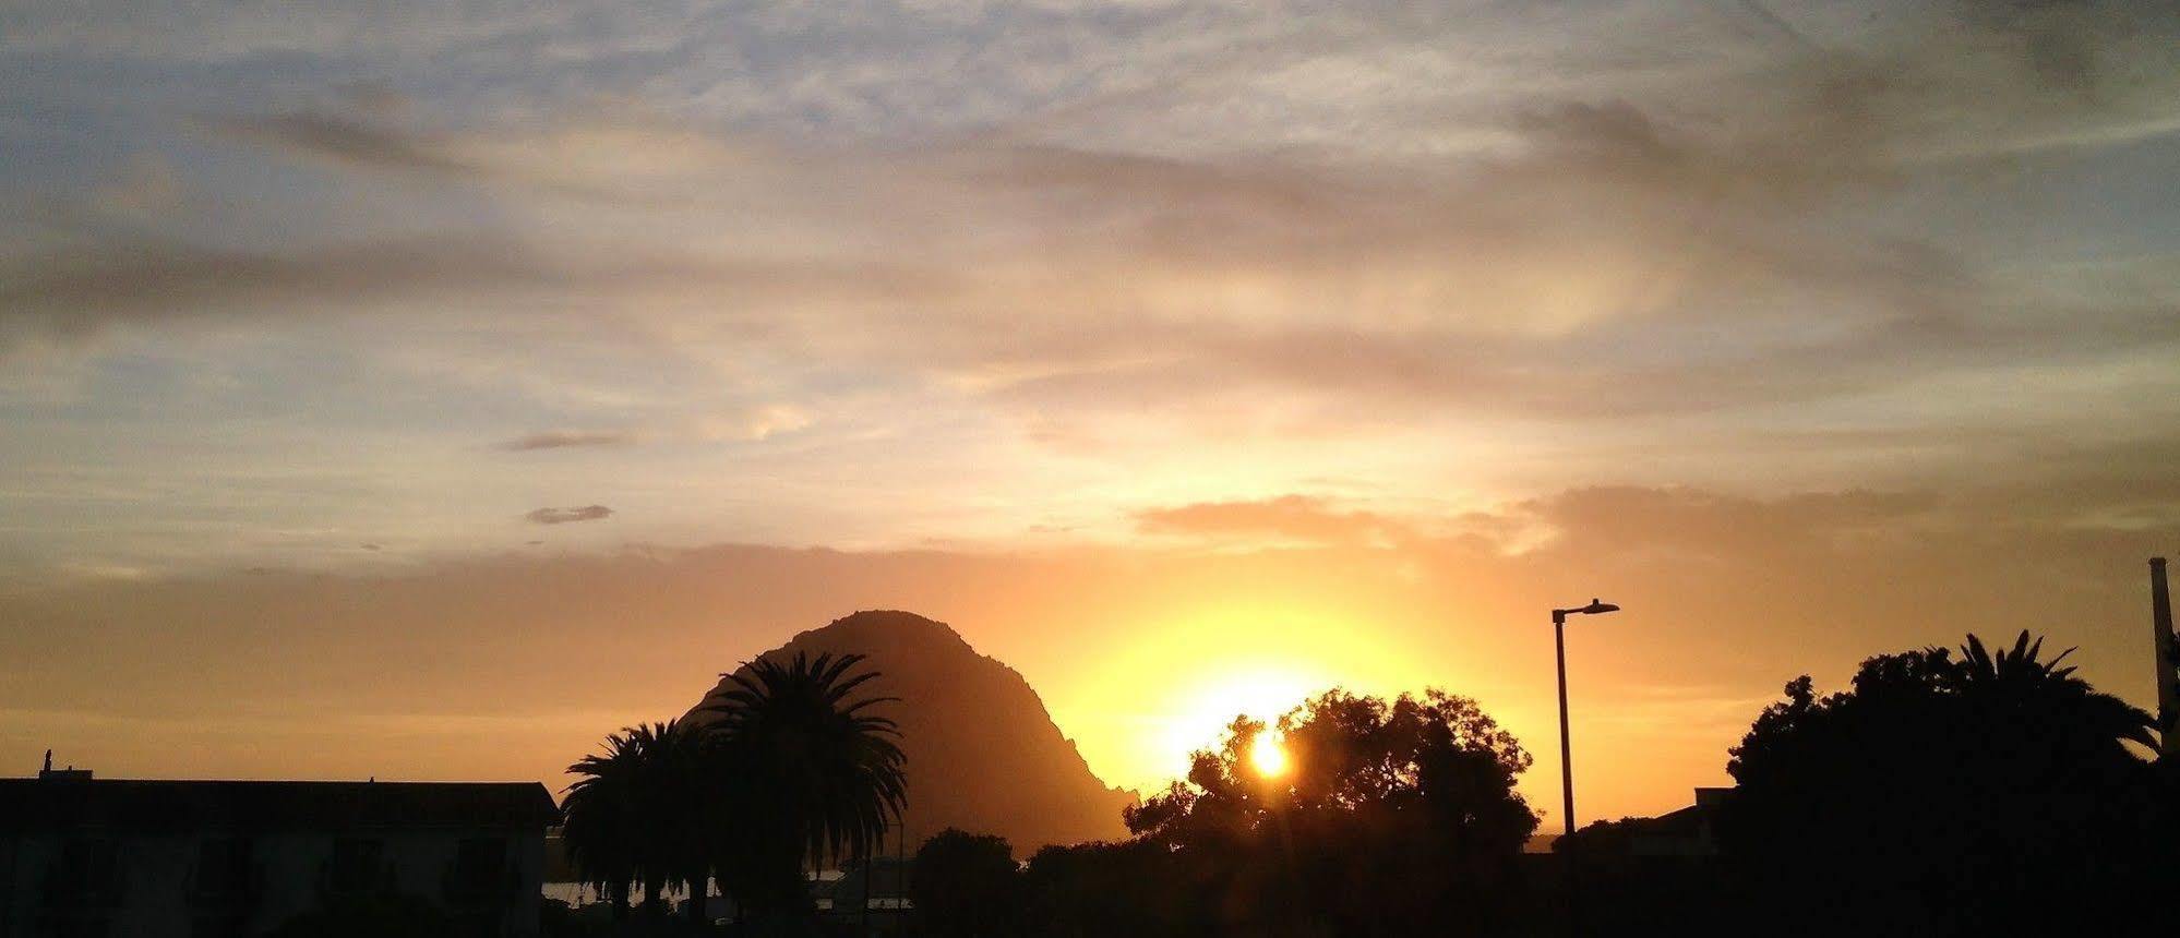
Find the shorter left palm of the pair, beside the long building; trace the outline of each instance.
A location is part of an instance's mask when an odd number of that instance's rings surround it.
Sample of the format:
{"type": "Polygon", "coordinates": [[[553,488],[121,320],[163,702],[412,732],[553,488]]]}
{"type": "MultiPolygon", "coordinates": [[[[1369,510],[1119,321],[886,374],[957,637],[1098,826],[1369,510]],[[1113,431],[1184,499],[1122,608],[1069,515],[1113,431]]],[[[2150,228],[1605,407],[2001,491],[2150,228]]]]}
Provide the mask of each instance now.
{"type": "Polygon", "coordinates": [[[689,883],[702,903],[704,831],[687,822],[708,777],[706,737],[676,720],[623,726],[606,735],[604,755],[567,768],[578,774],[562,805],[560,840],[586,883],[608,894],[617,918],[628,914],[630,883],[643,883],[643,905],[689,883]]]}

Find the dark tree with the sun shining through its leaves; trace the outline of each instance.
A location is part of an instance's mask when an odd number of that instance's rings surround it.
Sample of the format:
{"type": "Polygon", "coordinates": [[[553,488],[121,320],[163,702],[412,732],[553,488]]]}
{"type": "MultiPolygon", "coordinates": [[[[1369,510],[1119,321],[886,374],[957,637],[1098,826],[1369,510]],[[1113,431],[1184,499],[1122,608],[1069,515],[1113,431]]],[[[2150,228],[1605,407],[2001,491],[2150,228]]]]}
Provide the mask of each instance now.
{"type": "MultiPolygon", "coordinates": [[[[1168,862],[1127,849],[1088,857],[1155,877],[1134,899],[1190,934],[1472,934],[1502,923],[1537,827],[1513,790],[1530,757],[1474,700],[1328,692],[1280,718],[1291,766],[1275,779],[1247,759],[1264,731],[1236,720],[1219,750],[1195,755],[1186,783],[1127,811],[1138,840],[1168,862]]],[[[1066,859],[1083,857],[1049,866],[1066,859]]],[[[1040,901],[1059,894],[1066,905],[1064,888],[1036,873],[1033,862],[1040,901]]]]}

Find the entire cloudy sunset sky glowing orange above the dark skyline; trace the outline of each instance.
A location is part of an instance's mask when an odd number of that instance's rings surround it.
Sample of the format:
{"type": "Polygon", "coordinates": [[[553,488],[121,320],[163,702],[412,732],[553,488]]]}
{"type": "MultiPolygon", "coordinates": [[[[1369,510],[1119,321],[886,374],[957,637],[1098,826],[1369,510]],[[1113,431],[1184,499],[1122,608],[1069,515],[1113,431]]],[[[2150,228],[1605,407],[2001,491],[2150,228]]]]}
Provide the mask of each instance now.
{"type": "MultiPolygon", "coordinates": [[[[0,774],[545,779],[857,609],[1557,811],[2180,552],[2171,2],[4,2],[0,774]]],[[[1557,814],[1548,827],[1557,827],[1557,814]]]]}

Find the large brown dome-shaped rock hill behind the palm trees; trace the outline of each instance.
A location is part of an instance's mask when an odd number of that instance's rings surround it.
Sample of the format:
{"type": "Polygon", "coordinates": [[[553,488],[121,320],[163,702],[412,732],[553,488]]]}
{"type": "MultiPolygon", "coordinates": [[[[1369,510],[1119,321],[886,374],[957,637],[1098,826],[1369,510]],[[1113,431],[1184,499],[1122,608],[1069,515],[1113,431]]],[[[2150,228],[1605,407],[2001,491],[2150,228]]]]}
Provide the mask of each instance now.
{"type": "MultiPolygon", "coordinates": [[[[796,652],[865,654],[870,661],[859,670],[881,676],[865,683],[859,696],[900,698],[879,713],[900,722],[900,750],[909,759],[909,851],[948,827],[998,833],[1020,855],[1042,844],[1127,833],[1121,807],[1134,794],[1105,787],[1090,774],[1090,763],[1053,724],[1029,681],[998,659],[977,654],[944,622],[863,611],[796,635],[761,657],[796,652]]],[[[715,720],[704,707],[724,694],[722,687],[728,687],[726,678],[687,720],[715,720]]]]}

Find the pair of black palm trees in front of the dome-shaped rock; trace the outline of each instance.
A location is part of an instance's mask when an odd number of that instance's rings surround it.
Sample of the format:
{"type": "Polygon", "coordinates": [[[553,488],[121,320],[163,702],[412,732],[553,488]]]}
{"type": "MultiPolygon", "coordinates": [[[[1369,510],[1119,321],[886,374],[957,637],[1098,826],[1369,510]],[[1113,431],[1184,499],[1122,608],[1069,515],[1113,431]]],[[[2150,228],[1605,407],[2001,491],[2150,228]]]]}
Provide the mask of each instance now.
{"type": "Polygon", "coordinates": [[[907,798],[894,722],[865,713],[889,698],[855,698],[876,676],[850,676],[861,661],[759,659],[726,676],[717,722],[628,726],[569,766],[560,835],[615,918],[634,886],[661,914],[680,886],[704,921],[713,875],[772,931],[813,918],[804,870],[868,855],[907,798]]]}

